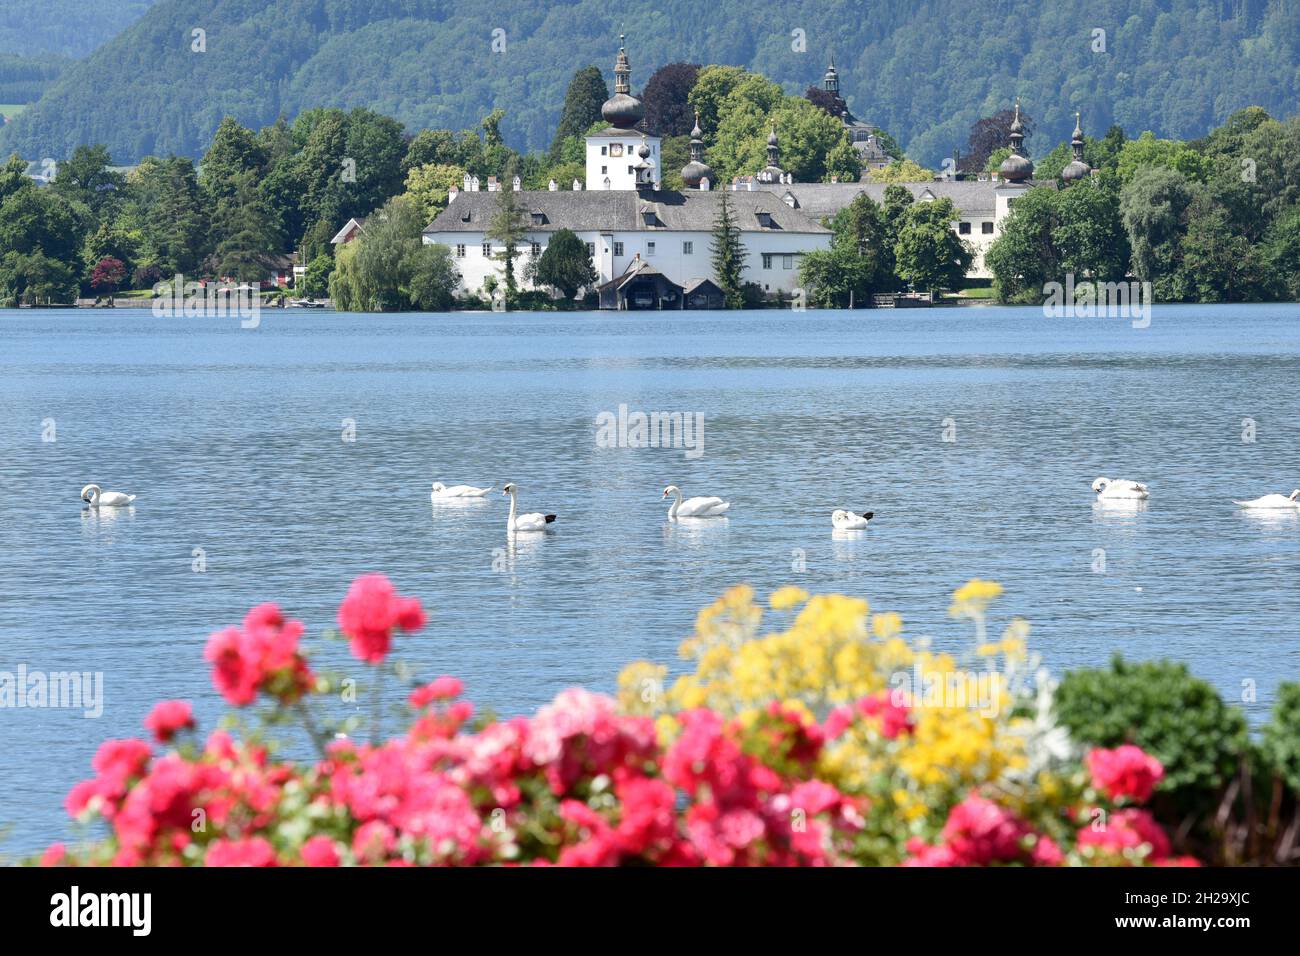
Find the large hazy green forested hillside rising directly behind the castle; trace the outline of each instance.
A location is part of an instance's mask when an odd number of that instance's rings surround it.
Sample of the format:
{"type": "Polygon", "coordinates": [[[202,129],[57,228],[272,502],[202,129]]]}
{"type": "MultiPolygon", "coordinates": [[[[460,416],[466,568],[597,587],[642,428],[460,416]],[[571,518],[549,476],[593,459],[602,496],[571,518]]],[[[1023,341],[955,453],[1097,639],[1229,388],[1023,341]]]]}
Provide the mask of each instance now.
{"type": "Polygon", "coordinates": [[[608,74],[620,30],[634,87],[686,60],[798,92],[833,52],[854,112],[930,165],[1017,96],[1037,152],[1075,109],[1089,133],[1190,138],[1240,107],[1288,116],[1300,100],[1300,0],[160,0],[0,131],[0,150],[196,156],[226,114],[257,126],[326,105],[412,130],[502,107],[511,144],[545,148],[575,69],[608,74]]]}

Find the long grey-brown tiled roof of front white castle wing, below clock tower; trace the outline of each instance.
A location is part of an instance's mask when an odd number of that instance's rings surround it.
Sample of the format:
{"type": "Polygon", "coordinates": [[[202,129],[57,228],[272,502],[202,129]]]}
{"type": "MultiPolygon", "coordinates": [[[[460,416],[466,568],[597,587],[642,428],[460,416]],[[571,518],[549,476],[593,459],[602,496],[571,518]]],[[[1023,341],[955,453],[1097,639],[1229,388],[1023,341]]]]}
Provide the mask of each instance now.
{"type": "MultiPolygon", "coordinates": [[[[785,187],[775,187],[785,189],[785,187]]],[[[524,224],[532,232],[551,233],[572,229],[576,233],[594,232],[684,232],[711,233],[722,204],[720,190],[685,193],[655,191],[638,194],[636,190],[580,190],[580,191],[523,191],[516,193],[524,211],[524,224]],[[644,212],[654,212],[646,217],[644,212]],[[541,213],[541,222],[534,224],[541,213]],[[646,220],[651,224],[647,225],[646,220]]],[[[780,200],[780,194],[768,190],[728,191],[737,225],[753,233],[814,233],[828,232],[816,219],[802,209],[792,209],[780,200]],[[771,215],[771,225],[759,225],[758,213],[771,215]]],[[[481,233],[497,212],[498,194],[462,193],[424,230],[425,235],[439,233],[481,233]]]]}

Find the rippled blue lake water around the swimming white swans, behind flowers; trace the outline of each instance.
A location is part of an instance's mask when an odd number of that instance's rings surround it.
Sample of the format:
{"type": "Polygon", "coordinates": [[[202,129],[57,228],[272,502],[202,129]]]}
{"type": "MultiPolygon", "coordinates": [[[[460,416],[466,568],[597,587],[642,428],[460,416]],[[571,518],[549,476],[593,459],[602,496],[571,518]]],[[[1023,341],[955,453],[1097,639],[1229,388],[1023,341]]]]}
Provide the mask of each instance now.
{"type": "MultiPolygon", "coordinates": [[[[1300,486],[1297,329],[1296,306],[1157,307],[1145,329],[1011,308],[0,315],[0,670],[104,675],[99,719],[0,710],[0,851],[66,836],[68,788],[156,700],[213,726],[209,632],[273,600],[318,633],[372,570],[430,610],[396,656],[504,714],[612,689],[636,658],[680,666],[697,610],[741,581],[859,594],[963,648],[949,594],[983,576],[1056,672],[1169,656],[1232,700],[1253,682],[1258,722],[1300,679],[1300,519],[1230,499],[1300,486]],[[703,454],[598,446],[620,405],[702,414],[703,454]],[[1098,511],[1098,475],[1149,483],[1148,507],[1098,511]],[[510,546],[499,493],[433,507],[434,479],[515,481],[559,520],[510,546]],[[95,514],[90,481],[139,499],[95,514]],[[670,483],[731,516],[670,524],[670,483]],[[833,536],[837,507],[876,518],[833,536]]],[[[317,661],[364,676],[339,644],[317,661]]]]}

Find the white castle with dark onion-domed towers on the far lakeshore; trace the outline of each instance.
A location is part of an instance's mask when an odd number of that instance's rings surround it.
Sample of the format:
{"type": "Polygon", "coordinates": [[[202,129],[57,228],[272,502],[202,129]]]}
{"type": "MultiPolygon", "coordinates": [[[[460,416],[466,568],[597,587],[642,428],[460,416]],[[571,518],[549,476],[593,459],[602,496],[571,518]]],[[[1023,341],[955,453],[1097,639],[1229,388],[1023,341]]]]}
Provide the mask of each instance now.
{"type": "MultiPolygon", "coordinates": [[[[503,282],[499,243],[488,238],[500,189],[514,189],[526,234],[524,256],[540,256],[550,237],[569,229],[586,243],[599,286],[602,308],[715,308],[722,297],[712,274],[711,242],[724,190],[714,189],[714,170],[703,159],[698,117],[690,137],[690,161],[682,168],[682,191],[660,189],[662,140],[637,129],[645,111],[630,92],[630,66],[621,47],[615,62],[615,92],[601,114],[610,125],[586,137],[586,182],[560,190],[521,190],[489,179],[481,191],[476,178],[452,189],[447,208],[424,230],[424,242],[442,243],[454,256],[467,291],[482,293],[485,281],[503,282]]],[[[833,69],[833,68],[832,68],[833,69]]],[[[837,82],[837,81],[836,81],[837,82]]],[[[836,88],[837,91],[837,88],[836,88]]],[[[854,122],[850,117],[846,122],[854,122]]],[[[1082,133],[1079,134],[1082,150],[1082,133]]],[[[988,181],[909,183],[918,202],[950,198],[958,209],[954,232],[976,252],[972,276],[987,276],[984,252],[1000,232],[1015,198],[1032,185],[1034,164],[1024,156],[1023,134],[1011,127],[1011,156],[988,181]]],[[[767,140],[767,165],[751,178],[725,189],[745,247],[742,281],[770,297],[793,297],[800,290],[800,259],[828,248],[831,230],[823,225],[861,193],[880,202],[880,183],[796,183],[780,166],[780,143],[774,129],[767,140]]],[[[525,263],[516,261],[521,287],[525,263]]]]}

